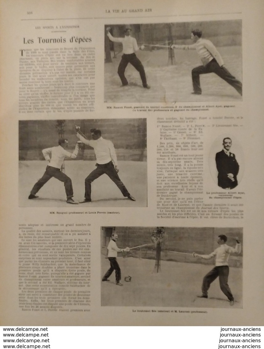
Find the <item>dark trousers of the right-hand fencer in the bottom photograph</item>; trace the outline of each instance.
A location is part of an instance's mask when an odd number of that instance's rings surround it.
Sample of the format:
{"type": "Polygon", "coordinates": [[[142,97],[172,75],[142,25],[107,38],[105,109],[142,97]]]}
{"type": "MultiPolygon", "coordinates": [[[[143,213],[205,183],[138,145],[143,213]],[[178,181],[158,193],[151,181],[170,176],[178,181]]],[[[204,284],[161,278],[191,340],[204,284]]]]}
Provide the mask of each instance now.
{"type": "Polygon", "coordinates": [[[211,283],[219,276],[219,283],[221,291],[227,296],[229,300],[234,300],[234,297],[228,286],[229,267],[227,265],[221,267],[214,267],[208,274],[205,275],[202,285],[202,292],[207,296],[207,291],[211,283]]]}

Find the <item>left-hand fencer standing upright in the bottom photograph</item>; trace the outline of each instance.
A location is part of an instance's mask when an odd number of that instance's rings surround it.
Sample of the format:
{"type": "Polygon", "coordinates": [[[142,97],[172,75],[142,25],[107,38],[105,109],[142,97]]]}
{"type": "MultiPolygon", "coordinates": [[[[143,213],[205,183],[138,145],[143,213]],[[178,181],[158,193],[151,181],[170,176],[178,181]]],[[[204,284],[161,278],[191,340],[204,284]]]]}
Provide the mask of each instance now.
{"type": "MultiPolygon", "coordinates": [[[[104,274],[102,281],[109,281],[108,278],[112,274],[112,272],[115,270],[116,272],[116,285],[123,286],[122,283],[120,283],[121,280],[121,269],[119,267],[119,264],[116,260],[117,258],[117,252],[129,252],[129,247],[126,248],[118,248],[116,241],[118,239],[118,235],[116,233],[112,234],[111,240],[107,246],[107,257],[110,262],[110,268],[107,270],[107,272],[104,274]]],[[[130,277],[131,280],[131,277],[130,277]]]]}

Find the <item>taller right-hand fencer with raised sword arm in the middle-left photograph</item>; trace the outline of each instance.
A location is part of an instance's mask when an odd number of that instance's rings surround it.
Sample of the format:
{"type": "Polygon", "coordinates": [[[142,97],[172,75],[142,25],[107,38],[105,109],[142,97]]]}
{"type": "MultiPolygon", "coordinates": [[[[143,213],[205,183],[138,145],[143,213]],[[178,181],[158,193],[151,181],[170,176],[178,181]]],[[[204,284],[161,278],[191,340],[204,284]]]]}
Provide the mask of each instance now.
{"type": "Polygon", "coordinates": [[[119,169],[113,143],[101,136],[100,129],[92,128],[90,130],[93,138],[92,140],[88,140],[80,134],[79,126],[76,126],[76,130],[78,139],[87,146],[94,148],[96,156],[96,169],[85,178],[85,199],[80,203],[91,202],[91,183],[93,183],[95,179],[99,178],[103,174],[107,174],[107,176],[119,188],[124,197],[131,201],[135,201],[135,198],[133,198],[133,196],[129,193],[118,176],[119,169]]]}

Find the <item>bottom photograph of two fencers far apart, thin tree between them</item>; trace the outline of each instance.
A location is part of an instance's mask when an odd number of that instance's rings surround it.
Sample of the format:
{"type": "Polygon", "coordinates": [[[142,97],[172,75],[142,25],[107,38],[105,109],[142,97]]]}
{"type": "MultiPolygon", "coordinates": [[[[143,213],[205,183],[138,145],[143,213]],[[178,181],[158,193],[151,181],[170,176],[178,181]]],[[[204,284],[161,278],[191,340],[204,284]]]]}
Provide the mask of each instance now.
{"type": "Polygon", "coordinates": [[[101,227],[101,305],[242,308],[243,228],[101,227]]]}

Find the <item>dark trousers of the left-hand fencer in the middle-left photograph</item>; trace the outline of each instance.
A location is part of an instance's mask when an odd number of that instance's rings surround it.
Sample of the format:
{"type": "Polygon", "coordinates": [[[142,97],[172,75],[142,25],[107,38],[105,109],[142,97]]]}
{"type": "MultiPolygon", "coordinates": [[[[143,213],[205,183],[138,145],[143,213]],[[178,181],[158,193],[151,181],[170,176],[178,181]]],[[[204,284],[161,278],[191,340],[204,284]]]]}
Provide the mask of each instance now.
{"type": "Polygon", "coordinates": [[[61,172],[60,169],[57,169],[56,167],[52,167],[49,165],[46,167],[45,173],[43,174],[41,179],[37,181],[30,193],[32,195],[35,195],[39,191],[39,189],[42,188],[43,185],[47,183],[47,181],[50,180],[52,177],[57,178],[58,180],[64,183],[67,199],[72,198],[73,188],[71,178],[66,176],[65,173],[61,172]]]}

